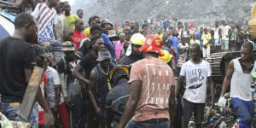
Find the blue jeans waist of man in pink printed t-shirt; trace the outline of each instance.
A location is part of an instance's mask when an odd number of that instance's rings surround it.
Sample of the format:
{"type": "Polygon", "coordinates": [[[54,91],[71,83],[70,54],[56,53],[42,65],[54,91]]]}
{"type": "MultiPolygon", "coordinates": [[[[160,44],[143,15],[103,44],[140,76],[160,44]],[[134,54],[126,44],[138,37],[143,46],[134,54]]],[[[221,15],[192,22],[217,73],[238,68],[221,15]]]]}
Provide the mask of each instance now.
{"type": "Polygon", "coordinates": [[[169,128],[170,121],[160,122],[159,119],[151,119],[143,122],[136,122],[132,119],[125,125],[125,128],[145,128],[145,127],[154,127],[154,128],[169,128]],[[154,120],[154,121],[152,121],[154,120]]]}

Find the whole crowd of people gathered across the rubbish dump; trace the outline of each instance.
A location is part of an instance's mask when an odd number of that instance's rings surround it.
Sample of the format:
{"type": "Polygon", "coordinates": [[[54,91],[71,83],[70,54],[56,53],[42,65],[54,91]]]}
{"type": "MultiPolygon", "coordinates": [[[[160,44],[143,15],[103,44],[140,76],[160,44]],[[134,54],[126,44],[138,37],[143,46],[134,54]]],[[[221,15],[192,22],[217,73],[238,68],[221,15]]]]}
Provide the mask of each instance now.
{"type": "Polygon", "coordinates": [[[239,125],[251,127],[256,64],[247,27],[225,20],[213,28],[170,20],[154,28],[150,20],[127,20],[121,27],[94,15],[84,28],[83,16],[56,0],[16,15],[14,34],[0,40],[1,112],[8,119],[16,119],[38,66],[44,75],[34,90],[32,128],[186,128],[192,115],[200,128],[207,96],[215,104],[212,68],[204,59],[241,51],[230,61],[218,105],[230,88],[239,125]]]}

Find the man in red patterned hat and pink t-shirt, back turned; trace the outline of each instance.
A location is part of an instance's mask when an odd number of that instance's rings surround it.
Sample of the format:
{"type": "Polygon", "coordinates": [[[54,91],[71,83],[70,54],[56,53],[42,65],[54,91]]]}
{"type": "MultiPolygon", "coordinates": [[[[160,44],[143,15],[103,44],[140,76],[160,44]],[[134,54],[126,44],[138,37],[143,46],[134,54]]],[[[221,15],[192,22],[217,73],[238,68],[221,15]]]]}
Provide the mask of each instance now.
{"type": "Polygon", "coordinates": [[[162,44],[159,36],[148,35],[145,44],[139,48],[144,52],[144,58],[131,67],[130,97],[118,128],[169,128],[170,119],[173,127],[175,80],[172,69],[158,58],[163,55],[160,51],[162,44]]]}

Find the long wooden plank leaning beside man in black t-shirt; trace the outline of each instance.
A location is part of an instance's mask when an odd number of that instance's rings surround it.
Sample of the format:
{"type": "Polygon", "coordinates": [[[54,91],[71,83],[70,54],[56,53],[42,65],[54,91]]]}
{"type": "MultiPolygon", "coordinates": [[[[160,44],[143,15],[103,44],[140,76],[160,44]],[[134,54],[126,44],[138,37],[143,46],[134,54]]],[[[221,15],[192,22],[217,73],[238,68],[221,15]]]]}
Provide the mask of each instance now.
{"type": "Polygon", "coordinates": [[[41,84],[43,74],[43,68],[34,67],[29,84],[26,87],[25,95],[23,96],[23,101],[20,105],[20,112],[17,114],[17,120],[29,122],[30,113],[32,112],[34,102],[36,101],[36,96],[40,88],[39,84],[41,84]]]}

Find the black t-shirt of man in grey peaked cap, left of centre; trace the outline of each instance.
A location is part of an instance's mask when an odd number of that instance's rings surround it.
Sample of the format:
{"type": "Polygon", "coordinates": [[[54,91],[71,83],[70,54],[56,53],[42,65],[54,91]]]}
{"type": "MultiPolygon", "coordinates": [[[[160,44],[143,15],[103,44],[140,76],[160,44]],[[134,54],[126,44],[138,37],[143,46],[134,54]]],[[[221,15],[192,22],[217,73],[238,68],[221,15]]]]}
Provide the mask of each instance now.
{"type": "Polygon", "coordinates": [[[72,83],[75,80],[75,77],[73,76],[73,68],[76,67],[76,61],[68,61],[67,56],[64,56],[64,59],[66,61],[67,70],[65,71],[64,61],[61,58],[61,60],[57,63],[57,71],[58,73],[66,73],[67,75],[67,84],[72,83]]]}

